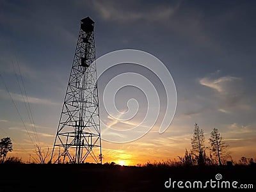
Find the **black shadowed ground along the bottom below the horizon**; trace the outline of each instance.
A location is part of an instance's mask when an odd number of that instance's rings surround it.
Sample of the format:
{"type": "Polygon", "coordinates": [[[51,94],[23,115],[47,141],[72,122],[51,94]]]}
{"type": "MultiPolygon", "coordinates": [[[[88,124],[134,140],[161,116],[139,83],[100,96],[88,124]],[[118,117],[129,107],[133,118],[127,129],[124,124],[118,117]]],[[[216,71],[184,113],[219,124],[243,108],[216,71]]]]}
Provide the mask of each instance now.
{"type": "MultiPolygon", "coordinates": [[[[101,164],[0,164],[0,191],[180,191],[165,188],[164,182],[234,180],[253,184],[254,189],[225,189],[225,191],[255,191],[256,166],[207,167],[136,167],[101,164]]],[[[183,183],[184,186],[184,183],[183,183]]],[[[230,187],[232,188],[232,187],[230,187]]],[[[183,191],[199,189],[184,188],[183,191]]],[[[204,191],[220,191],[209,185],[204,191]]],[[[223,191],[223,190],[222,190],[223,191]]]]}

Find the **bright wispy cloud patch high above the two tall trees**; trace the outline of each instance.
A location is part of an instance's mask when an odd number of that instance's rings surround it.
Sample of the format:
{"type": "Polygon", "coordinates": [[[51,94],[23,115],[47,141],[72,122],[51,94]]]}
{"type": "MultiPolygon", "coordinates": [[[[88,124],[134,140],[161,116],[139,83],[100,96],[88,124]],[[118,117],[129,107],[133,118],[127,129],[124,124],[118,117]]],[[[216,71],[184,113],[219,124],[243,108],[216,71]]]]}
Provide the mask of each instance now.
{"type": "MultiPolygon", "coordinates": [[[[246,98],[246,89],[243,86],[243,79],[235,76],[222,76],[220,72],[209,74],[198,79],[200,86],[205,86],[213,92],[201,92],[196,100],[200,108],[195,111],[189,111],[188,115],[202,113],[204,111],[219,111],[225,114],[231,114],[237,109],[248,110],[248,100],[246,98]],[[216,77],[219,76],[219,77],[216,77]]],[[[191,105],[191,104],[190,104],[191,105]]],[[[195,104],[192,104],[195,106],[195,104]]]]}

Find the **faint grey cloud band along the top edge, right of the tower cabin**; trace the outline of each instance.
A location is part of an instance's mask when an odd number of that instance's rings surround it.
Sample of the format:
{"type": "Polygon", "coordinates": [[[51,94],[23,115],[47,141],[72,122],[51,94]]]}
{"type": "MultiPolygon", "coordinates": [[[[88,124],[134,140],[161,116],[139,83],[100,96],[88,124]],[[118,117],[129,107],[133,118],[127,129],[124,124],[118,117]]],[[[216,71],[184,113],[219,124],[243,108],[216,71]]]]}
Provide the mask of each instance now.
{"type": "MultiPolygon", "coordinates": [[[[118,24],[143,23],[152,27],[179,33],[182,38],[190,39],[203,47],[211,47],[214,52],[222,51],[223,47],[210,37],[202,24],[204,17],[198,14],[195,7],[186,7],[182,1],[166,1],[162,3],[148,3],[147,1],[88,1],[86,6],[92,6],[101,19],[118,24]],[[184,8],[189,17],[184,17],[184,8]]],[[[134,28],[136,28],[134,26],[134,28]]],[[[126,40],[124,40],[125,42],[126,40]]]]}

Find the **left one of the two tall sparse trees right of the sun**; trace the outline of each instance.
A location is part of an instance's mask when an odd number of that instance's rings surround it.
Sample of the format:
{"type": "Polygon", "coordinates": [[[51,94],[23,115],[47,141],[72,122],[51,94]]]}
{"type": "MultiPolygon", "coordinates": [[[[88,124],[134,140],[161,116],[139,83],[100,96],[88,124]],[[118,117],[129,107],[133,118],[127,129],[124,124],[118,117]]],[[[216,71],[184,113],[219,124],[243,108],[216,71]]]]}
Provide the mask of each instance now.
{"type": "Polygon", "coordinates": [[[191,138],[191,153],[196,157],[198,165],[205,164],[205,145],[204,145],[204,131],[199,129],[199,125],[195,124],[195,131],[193,138],[191,138]]]}

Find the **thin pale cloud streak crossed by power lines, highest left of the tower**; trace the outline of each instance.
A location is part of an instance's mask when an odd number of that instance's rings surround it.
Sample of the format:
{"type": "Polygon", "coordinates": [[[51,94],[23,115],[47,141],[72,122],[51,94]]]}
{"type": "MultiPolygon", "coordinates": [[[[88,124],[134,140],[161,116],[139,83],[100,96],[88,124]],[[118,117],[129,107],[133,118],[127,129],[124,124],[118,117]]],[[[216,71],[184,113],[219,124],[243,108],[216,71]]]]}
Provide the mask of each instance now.
{"type": "MultiPolygon", "coordinates": [[[[19,101],[19,102],[26,102],[26,97],[24,97],[24,95],[20,95],[17,93],[11,93],[10,95],[12,96],[13,100],[19,101]],[[23,99],[24,98],[24,99],[23,99]]],[[[10,96],[8,95],[8,93],[5,90],[0,90],[0,97],[3,99],[10,99],[10,96]]],[[[28,97],[28,102],[29,103],[33,103],[33,104],[48,104],[48,105],[58,105],[59,103],[56,102],[52,102],[51,100],[47,100],[47,99],[40,99],[37,97],[28,97]]]]}

